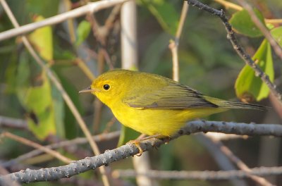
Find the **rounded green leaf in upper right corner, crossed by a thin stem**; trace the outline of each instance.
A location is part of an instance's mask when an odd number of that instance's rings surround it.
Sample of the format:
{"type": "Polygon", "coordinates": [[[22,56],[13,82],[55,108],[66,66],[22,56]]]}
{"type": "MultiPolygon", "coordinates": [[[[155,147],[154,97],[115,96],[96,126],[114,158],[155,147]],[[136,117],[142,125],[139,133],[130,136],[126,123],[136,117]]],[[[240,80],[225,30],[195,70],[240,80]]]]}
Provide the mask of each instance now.
{"type": "MultiPolygon", "coordinates": [[[[257,18],[265,25],[264,16],[256,8],[254,8],[257,18]]],[[[229,20],[233,29],[242,34],[247,35],[248,37],[259,37],[262,36],[262,32],[259,28],[252,22],[249,13],[244,9],[243,11],[238,11],[233,14],[229,20]]]]}

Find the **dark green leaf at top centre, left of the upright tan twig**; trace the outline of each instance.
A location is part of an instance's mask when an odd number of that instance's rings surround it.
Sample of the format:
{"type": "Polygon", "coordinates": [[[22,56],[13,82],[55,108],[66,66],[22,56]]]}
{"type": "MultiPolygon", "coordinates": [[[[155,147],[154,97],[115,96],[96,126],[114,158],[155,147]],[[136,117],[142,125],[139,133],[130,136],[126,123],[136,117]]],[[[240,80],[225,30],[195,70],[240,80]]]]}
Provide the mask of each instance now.
{"type": "Polygon", "coordinates": [[[165,0],[140,0],[140,4],[147,6],[166,32],[176,35],[180,14],[171,2],[165,0]]]}

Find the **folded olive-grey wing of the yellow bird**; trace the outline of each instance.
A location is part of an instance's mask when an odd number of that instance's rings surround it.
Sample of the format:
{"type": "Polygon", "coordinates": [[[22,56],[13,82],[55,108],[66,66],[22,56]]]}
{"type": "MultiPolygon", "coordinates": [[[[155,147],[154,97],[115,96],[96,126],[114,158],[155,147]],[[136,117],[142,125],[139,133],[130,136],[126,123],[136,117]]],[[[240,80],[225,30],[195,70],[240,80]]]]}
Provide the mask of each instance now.
{"type": "Polygon", "coordinates": [[[177,83],[124,99],[128,106],[137,109],[191,109],[218,107],[204,99],[200,92],[177,83]]]}

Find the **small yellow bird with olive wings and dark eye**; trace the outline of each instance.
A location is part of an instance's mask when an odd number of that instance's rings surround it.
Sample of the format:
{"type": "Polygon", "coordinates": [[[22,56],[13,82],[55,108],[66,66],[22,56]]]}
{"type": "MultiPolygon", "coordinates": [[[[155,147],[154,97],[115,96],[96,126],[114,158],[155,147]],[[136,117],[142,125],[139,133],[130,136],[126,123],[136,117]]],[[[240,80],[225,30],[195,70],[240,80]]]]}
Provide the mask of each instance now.
{"type": "Polygon", "coordinates": [[[80,92],[92,92],[123,125],[159,137],[169,137],[186,121],[213,113],[264,108],[207,97],[161,75],[131,70],[112,70],[99,75],[90,87],[80,92]]]}

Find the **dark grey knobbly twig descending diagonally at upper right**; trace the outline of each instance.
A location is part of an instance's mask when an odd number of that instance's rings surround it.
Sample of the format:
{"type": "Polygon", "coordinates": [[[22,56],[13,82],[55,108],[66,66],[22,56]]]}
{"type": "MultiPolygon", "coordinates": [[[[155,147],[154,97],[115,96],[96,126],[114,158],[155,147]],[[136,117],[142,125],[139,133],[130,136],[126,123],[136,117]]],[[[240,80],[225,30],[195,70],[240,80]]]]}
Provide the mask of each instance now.
{"type": "Polygon", "coordinates": [[[216,10],[212,7],[209,7],[205,4],[202,4],[202,3],[200,3],[199,1],[196,1],[196,0],[185,0],[185,1],[188,1],[188,4],[192,4],[193,6],[197,6],[201,10],[207,11],[207,12],[212,13],[213,15],[219,16],[219,18],[221,18],[223,25],[226,28],[226,32],[227,32],[227,35],[228,35],[227,38],[231,41],[231,44],[233,45],[233,48],[235,49],[237,54],[241,58],[243,58],[245,63],[255,71],[255,75],[262,79],[262,81],[267,85],[267,87],[269,87],[270,91],[274,94],[274,96],[278,99],[278,101],[280,101],[282,103],[282,96],[277,91],[276,85],[274,85],[274,83],[272,83],[269,80],[269,76],[266,75],[266,73],[264,73],[262,71],[262,69],[259,68],[259,66],[257,66],[257,64],[254,61],[252,61],[252,58],[250,57],[250,55],[248,55],[245,52],[245,50],[243,49],[243,47],[240,46],[240,44],[238,44],[238,40],[236,39],[236,37],[234,35],[234,30],[232,30],[230,23],[228,23],[228,18],[226,18],[223,10],[218,11],[218,10],[216,10]]]}

